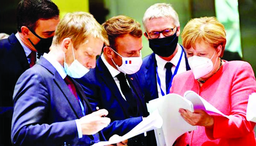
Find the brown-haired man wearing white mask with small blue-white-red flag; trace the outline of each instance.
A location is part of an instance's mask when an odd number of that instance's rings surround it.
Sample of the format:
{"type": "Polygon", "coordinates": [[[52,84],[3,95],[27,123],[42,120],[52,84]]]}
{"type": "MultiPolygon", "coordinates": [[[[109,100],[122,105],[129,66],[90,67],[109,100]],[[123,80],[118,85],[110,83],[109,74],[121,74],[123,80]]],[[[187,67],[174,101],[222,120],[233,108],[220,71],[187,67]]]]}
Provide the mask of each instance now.
{"type": "MultiPolygon", "coordinates": [[[[142,64],[140,23],[120,15],[102,25],[108,33],[109,45],[103,48],[96,68],[77,81],[93,107],[108,110],[112,121],[145,117],[148,111],[136,74],[142,64]]],[[[155,140],[154,135],[152,139],[155,140]]],[[[144,135],[128,140],[128,146],[146,146],[146,143],[144,135]]]]}

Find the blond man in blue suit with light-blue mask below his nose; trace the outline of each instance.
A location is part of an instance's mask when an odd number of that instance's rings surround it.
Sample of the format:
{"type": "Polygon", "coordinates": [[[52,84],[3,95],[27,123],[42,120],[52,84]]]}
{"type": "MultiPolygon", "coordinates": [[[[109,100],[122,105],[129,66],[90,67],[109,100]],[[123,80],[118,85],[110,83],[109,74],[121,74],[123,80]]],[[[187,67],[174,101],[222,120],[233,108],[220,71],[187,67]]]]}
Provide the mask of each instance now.
{"type": "Polygon", "coordinates": [[[139,117],[108,126],[111,120],[102,117],[108,111],[93,112],[96,109],[90,107],[81,86],[72,79],[95,67],[104,42],[108,45],[107,34],[91,14],[64,16],[49,53],[26,70],[15,86],[15,146],[90,146],[113,134],[122,135],[142,121],[139,117]],[[102,132],[106,131],[105,137],[102,132]]]}

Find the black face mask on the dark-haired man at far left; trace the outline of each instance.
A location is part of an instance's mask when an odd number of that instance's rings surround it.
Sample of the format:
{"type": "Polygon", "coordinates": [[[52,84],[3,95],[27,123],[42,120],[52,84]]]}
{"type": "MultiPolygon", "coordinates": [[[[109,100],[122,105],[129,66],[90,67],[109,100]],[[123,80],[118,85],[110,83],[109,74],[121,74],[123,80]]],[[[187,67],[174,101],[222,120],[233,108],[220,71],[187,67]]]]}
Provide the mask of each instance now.
{"type": "Polygon", "coordinates": [[[32,32],[32,34],[34,34],[36,37],[38,37],[38,39],[40,39],[40,41],[37,44],[34,44],[30,39],[29,42],[31,42],[31,44],[35,47],[35,49],[38,51],[38,55],[42,55],[44,53],[49,53],[49,48],[52,45],[52,39],[53,37],[49,37],[49,38],[41,38],[40,36],[38,36],[38,34],[35,33],[35,31],[33,31],[32,29],[29,28],[29,30],[32,32]]]}

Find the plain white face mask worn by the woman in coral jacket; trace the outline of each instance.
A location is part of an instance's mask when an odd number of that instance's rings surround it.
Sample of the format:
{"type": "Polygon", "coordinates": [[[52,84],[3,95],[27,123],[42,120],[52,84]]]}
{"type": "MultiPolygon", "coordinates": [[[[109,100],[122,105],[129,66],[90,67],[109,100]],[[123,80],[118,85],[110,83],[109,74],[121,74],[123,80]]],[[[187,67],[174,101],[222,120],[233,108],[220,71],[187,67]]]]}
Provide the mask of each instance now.
{"type": "MultiPolygon", "coordinates": [[[[214,56],[214,54],[212,55],[212,57],[214,56]]],[[[216,59],[216,61],[217,60],[218,59],[216,59]]],[[[213,66],[215,65],[215,63],[214,65],[212,64],[212,58],[209,59],[207,57],[201,57],[201,56],[195,56],[195,55],[192,57],[189,57],[188,62],[189,62],[189,67],[191,68],[195,79],[199,79],[207,75],[208,73],[210,73],[213,69],[213,66]]]]}

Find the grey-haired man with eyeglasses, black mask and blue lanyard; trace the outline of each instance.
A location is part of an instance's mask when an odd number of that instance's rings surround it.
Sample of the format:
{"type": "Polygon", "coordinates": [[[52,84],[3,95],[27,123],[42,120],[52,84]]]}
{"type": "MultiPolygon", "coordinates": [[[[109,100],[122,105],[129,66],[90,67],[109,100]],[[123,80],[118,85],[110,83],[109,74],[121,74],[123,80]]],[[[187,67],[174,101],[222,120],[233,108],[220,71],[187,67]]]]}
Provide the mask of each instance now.
{"type": "MultiPolygon", "coordinates": [[[[156,3],[144,14],[143,26],[149,47],[153,51],[143,59],[140,76],[145,76],[145,100],[169,94],[172,79],[177,73],[190,70],[184,49],[178,42],[180,22],[170,4],[156,3]]],[[[141,78],[143,79],[143,78],[141,78]]],[[[143,83],[144,82],[144,83],[143,83]]]]}

